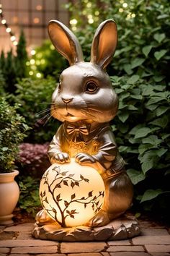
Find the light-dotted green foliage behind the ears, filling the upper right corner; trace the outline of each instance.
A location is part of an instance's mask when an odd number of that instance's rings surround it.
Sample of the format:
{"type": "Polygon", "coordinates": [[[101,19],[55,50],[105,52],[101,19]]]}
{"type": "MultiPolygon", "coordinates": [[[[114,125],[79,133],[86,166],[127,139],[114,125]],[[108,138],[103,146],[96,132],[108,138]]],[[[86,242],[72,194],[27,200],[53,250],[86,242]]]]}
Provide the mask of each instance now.
{"type": "Polygon", "coordinates": [[[169,80],[170,2],[169,1],[84,1],[68,4],[71,19],[76,19],[76,35],[85,59],[90,56],[94,31],[100,22],[113,19],[117,23],[118,44],[109,74],[153,77],[169,80]],[[91,24],[89,24],[91,23],[91,24]],[[84,29],[82,29],[82,27],[84,29]]]}

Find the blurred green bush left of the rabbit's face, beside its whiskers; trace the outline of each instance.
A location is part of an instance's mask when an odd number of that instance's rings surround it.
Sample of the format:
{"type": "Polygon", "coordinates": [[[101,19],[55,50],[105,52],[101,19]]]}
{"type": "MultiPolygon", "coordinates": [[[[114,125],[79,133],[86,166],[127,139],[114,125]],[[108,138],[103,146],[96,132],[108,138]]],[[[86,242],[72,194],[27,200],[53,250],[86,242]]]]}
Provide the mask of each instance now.
{"type": "Polygon", "coordinates": [[[27,137],[28,142],[49,142],[58,128],[58,121],[50,118],[50,102],[56,81],[52,77],[32,80],[24,78],[17,85],[14,101],[27,124],[32,127],[27,137]]]}

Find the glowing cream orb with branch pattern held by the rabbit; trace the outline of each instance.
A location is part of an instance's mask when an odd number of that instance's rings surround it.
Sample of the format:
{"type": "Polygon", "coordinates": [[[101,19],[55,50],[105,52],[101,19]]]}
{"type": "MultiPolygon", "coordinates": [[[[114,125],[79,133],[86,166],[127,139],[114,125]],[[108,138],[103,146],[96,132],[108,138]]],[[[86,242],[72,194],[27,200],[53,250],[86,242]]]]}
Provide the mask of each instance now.
{"type": "Polygon", "coordinates": [[[40,200],[50,218],[61,226],[85,224],[102,208],[104,182],[96,169],[53,163],[40,182],[40,200]]]}

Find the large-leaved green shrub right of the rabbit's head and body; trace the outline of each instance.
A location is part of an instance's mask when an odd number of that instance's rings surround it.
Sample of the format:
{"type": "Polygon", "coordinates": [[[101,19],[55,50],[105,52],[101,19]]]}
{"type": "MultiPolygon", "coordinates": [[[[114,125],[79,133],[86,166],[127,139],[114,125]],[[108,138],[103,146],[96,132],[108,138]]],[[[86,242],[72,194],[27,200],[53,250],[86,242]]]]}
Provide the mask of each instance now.
{"type": "Polygon", "coordinates": [[[170,92],[164,83],[151,84],[138,75],[111,80],[120,100],[112,129],[136,199],[145,210],[159,203],[165,210],[170,195],[170,92]]]}

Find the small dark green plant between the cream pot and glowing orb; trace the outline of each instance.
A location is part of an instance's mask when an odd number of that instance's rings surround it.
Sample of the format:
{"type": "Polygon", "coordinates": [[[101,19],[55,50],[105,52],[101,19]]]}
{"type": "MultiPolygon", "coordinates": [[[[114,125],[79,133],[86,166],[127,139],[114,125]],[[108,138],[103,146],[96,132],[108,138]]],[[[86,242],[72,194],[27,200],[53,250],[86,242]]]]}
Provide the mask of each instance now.
{"type": "Polygon", "coordinates": [[[31,213],[32,216],[35,216],[40,208],[39,184],[40,180],[32,176],[19,176],[18,206],[27,213],[31,213]]]}

